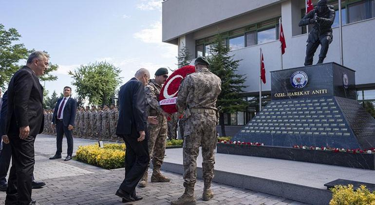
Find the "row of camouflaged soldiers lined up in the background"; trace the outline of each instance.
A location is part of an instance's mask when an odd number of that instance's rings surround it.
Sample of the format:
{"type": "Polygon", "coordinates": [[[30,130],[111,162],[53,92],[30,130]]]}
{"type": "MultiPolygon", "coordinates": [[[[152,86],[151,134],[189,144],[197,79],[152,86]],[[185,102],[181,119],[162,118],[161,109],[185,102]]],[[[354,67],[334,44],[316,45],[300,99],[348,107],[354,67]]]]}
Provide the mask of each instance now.
{"type": "MultiPolygon", "coordinates": [[[[51,121],[54,110],[44,110],[44,131],[45,134],[55,135],[56,130],[52,128],[51,121]]],[[[73,135],[81,138],[92,138],[98,140],[111,140],[116,141],[118,137],[115,135],[116,126],[118,119],[118,109],[112,104],[110,107],[104,105],[86,106],[86,109],[81,107],[77,109],[75,116],[75,129],[73,129],[73,135]]],[[[179,119],[177,114],[172,115],[172,118],[168,121],[168,138],[177,138],[177,123],[182,119],[179,119]]],[[[181,127],[182,128],[182,127],[181,127]]],[[[180,128],[180,133],[183,131],[180,128]]]]}

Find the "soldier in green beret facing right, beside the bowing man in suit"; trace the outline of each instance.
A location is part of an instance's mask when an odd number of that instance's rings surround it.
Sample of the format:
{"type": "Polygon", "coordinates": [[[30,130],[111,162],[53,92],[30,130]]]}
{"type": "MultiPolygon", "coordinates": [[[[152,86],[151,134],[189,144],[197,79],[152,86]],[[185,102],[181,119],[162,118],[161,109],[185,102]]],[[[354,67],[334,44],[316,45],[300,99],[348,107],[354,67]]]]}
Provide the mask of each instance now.
{"type": "MultiPolygon", "coordinates": [[[[152,176],[151,182],[169,182],[170,179],[163,176],[160,172],[160,167],[164,160],[167,140],[167,117],[170,115],[163,111],[159,105],[159,94],[162,84],[168,78],[168,69],[159,68],[155,72],[155,79],[150,80],[145,87],[146,111],[148,116],[156,116],[159,121],[158,124],[151,124],[147,122],[147,131],[149,133],[149,154],[152,159],[152,176]]],[[[148,179],[148,170],[145,171],[139,187],[146,187],[148,179]]]]}

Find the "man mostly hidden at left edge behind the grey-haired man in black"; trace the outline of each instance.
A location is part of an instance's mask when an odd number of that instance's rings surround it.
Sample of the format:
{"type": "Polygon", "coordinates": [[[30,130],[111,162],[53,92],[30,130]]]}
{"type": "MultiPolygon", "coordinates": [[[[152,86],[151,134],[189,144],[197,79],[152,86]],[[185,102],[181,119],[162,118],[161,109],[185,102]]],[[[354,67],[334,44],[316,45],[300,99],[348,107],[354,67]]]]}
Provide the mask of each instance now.
{"type": "MultiPolygon", "coordinates": [[[[8,183],[6,182],[6,175],[9,170],[10,159],[12,158],[12,147],[9,144],[9,138],[4,135],[4,128],[6,124],[6,115],[8,112],[8,91],[4,92],[2,96],[2,104],[0,107],[0,136],[2,139],[2,150],[0,152],[0,191],[6,191],[8,183]]],[[[37,182],[34,179],[34,174],[31,176],[31,188],[42,188],[46,183],[37,182]]]]}

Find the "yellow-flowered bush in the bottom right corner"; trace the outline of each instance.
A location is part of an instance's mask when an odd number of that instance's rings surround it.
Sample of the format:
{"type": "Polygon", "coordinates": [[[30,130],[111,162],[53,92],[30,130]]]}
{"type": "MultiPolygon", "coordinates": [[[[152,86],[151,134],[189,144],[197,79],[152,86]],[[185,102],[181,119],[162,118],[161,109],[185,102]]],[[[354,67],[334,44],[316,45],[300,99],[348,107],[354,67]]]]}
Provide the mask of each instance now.
{"type": "Polygon", "coordinates": [[[331,191],[330,205],[375,205],[375,191],[370,192],[364,185],[356,190],[353,190],[353,185],[338,185],[331,191]]]}

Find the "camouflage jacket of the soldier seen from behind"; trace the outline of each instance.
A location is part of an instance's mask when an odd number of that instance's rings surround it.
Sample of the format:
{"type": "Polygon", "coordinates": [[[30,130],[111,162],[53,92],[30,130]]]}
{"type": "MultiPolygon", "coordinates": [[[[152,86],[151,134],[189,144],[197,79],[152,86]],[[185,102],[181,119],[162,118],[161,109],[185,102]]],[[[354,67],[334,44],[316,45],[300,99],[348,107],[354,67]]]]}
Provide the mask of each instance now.
{"type": "Polygon", "coordinates": [[[216,108],[221,92],[221,79],[207,68],[191,73],[181,83],[177,96],[177,108],[183,113],[187,108],[216,108]]]}

